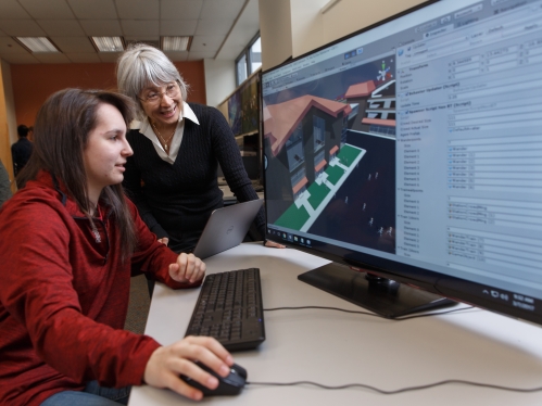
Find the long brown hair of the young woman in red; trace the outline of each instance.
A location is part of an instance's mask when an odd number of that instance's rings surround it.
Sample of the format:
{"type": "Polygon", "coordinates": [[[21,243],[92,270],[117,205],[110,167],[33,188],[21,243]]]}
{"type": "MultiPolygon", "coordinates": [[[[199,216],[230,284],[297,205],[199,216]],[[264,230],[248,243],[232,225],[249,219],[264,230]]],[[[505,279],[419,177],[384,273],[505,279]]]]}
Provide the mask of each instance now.
{"type": "MultiPolygon", "coordinates": [[[[28,180],[36,179],[39,170],[48,170],[64,185],[90,221],[91,203],[83,156],[88,135],[98,125],[98,107],[104,103],[116,107],[129,126],[135,117],[135,105],[126,96],[103,90],[64,89],[49,97],[36,117],[33,153],[17,176],[17,182],[23,188],[28,180]]],[[[123,187],[105,187],[100,200],[112,207],[119,228],[117,243],[121,244],[123,259],[126,259],[134,253],[137,238],[123,187]]]]}

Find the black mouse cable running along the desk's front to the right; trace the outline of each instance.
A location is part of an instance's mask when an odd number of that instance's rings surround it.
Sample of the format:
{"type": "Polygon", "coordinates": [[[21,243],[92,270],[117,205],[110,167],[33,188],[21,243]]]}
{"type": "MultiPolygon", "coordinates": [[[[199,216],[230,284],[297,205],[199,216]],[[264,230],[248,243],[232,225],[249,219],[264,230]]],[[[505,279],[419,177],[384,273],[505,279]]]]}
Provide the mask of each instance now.
{"type": "Polygon", "coordinates": [[[521,388],[511,388],[511,386],[501,386],[501,385],[495,385],[491,383],[481,383],[481,382],[471,382],[471,381],[464,381],[461,379],[449,379],[445,381],[440,381],[440,382],[434,382],[434,383],[428,383],[425,385],[418,385],[418,386],[407,386],[407,388],[401,388],[396,389],[393,391],[385,391],[382,389],[378,389],[375,386],[366,385],[363,383],[349,383],[344,385],[338,385],[338,386],[330,386],[330,385],[325,385],[322,383],[316,383],[316,382],[311,382],[311,381],[297,381],[297,382],[245,382],[247,384],[252,384],[252,385],[263,385],[263,386],[294,386],[294,385],[302,385],[302,384],[308,384],[313,386],[318,386],[322,389],[328,389],[328,390],[341,390],[341,389],[349,389],[349,388],[363,388],[363,389],[368,389],[369,391],[378,392],[382,395],[396,395],[399,393],[404,393],[404,392],[413,392],[413,391],[420,391],[420,390],[426,390],[434,386],[441,386],[445,384],[451,384],[451,383],[458,383],[458,384],[465,384],[465,385],[470,385],[470,386],[479,386],[479,388],[488,388],[488,389],[496,389],[501,391],[509,391],[509,392],[521,392],[521,393],[532,393],[532,392],[540,392],[542,391],[542,386],[539,388],[530,388],[530,389],[521,389],[521,388]]]}

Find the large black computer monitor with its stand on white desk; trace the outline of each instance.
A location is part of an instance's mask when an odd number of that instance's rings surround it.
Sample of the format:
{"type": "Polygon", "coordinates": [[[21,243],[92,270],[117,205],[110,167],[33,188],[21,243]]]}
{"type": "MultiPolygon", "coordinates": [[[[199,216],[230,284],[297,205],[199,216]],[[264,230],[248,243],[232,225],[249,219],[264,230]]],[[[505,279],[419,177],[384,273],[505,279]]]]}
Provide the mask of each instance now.
{"type": "Polygon", "coordinates": [[[266,238],[332,261],[300,279],[542,323],[541,17],[431,1],[263,73],[266,238]]]}

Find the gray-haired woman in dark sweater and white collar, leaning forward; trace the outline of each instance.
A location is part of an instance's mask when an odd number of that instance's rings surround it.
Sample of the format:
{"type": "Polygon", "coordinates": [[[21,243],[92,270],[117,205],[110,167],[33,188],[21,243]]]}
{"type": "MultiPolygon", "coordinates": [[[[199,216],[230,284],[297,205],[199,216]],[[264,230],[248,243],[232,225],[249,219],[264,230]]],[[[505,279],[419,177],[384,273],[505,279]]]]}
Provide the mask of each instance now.
{"type": "MultiPolygon", "coordinates": [[[[127,137],[134,155],[123,185],[160,241],[190,252],[211,213],[223,206],[218,164],[238,201],[259,199],[235,137],[218,110],[187,103],[188,85],[159,49],[130,46],[118,59],[116,76],[119,91],[139,113],[127,137]]],[[[263,208],[254,223],[260,236],[253,240],[261,240],[263,208]]]]}

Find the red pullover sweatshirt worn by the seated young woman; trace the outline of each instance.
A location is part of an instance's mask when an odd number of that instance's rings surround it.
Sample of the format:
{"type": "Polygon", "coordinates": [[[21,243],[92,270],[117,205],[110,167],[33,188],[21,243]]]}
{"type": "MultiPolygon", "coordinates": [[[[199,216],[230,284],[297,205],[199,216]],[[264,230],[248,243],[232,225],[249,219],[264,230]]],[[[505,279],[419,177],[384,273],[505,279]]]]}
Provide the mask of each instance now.
{"type": "Polygon", "coordinates": [[[172,288],[188,287],[169,277],[177,255],[156,241],[131,202],[138,248],[123,263],[109,208],[100,205],[93,230],[53,183],[41,172],[0,211],[1,405],[39,405],[91,380],[141,384],[160,344],[123,330],[130,267],[172,288]]]}

